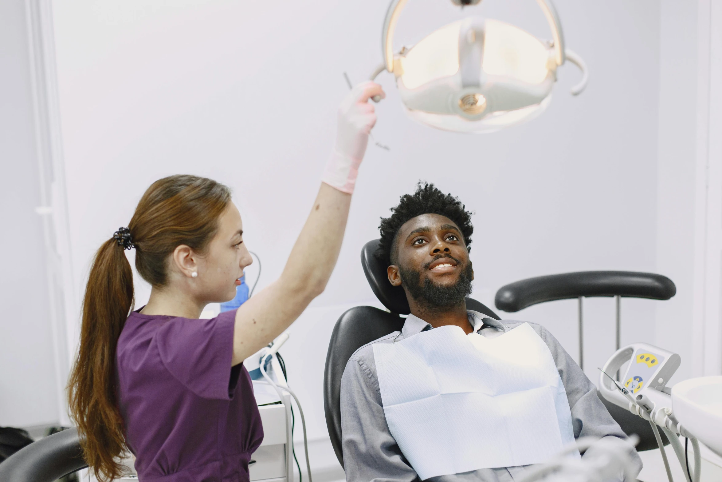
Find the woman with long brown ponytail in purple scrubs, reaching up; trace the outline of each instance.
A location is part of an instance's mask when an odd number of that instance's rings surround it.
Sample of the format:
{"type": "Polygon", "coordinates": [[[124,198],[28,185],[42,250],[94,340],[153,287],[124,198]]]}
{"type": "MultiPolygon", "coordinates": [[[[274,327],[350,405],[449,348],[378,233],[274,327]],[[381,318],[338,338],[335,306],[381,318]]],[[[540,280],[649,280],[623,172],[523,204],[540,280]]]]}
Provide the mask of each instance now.
{"type": "Polygon", "coordinates": [[[99,481],[136,456],[141,481],[248,481],[263,439],[243,360],[294,322],[326,287],[341,249],[357,169],[376,117],[373,82],[355,87],[338,115],[336,145],[308,220],[281,277],[238,310],[198,319],[228,301],[252,259],[226,186],[196,176],[155,181],[95,254],[69,381],[71,415],[99,481]],[[152,285],[131,311],[136,269],[152,285]]]}

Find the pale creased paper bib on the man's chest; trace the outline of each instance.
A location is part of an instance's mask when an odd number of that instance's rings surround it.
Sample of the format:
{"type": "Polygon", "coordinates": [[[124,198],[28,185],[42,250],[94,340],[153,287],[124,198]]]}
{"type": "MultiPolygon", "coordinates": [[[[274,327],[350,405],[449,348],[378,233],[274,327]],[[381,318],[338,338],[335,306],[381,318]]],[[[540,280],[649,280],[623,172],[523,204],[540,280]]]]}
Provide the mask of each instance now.
{"type": "Polygon", "coordinates": [[[528,323],[495,338],[438,327],[373,355],[388,429],[422,480],[544,463],[574,442],[554,358],[528,323]]]}

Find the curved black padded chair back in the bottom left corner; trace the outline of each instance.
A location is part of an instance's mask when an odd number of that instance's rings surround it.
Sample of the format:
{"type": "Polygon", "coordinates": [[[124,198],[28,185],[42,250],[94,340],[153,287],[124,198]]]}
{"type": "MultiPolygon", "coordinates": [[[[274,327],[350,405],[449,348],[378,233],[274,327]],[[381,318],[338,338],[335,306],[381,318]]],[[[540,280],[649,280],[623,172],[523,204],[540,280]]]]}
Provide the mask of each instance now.
{"type": "Polygon", "coordinates": [[[2,482],[54,482],[86,468],[77,429],[48,435],[0,463],[2,482]]]}

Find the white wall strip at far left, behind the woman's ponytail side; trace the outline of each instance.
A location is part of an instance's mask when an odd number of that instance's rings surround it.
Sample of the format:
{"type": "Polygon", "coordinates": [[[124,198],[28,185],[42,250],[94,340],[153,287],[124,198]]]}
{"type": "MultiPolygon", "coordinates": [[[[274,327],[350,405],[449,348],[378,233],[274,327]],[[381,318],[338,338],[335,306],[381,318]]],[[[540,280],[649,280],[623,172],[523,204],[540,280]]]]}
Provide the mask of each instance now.
{"type": "Polygon", "coordinates": [[[0,426],[57,423],[25,3],[0,2],[0,426]]]}

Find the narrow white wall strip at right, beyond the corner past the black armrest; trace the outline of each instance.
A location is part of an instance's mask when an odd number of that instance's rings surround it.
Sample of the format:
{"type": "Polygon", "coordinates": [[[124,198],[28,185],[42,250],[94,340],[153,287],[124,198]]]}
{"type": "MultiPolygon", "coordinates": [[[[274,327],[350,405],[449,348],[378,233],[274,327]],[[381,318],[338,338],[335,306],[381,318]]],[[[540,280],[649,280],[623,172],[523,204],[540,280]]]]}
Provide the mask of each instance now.
{"type": "Polygon", "coordinates": [[[657,173],[658,270],[677,284],[677,295],[656,313],[655,344],[682,356],[675,380],[692,376],[692,304],[695,270],[697,2],[661,2],[659,155],[657,173]]]}

